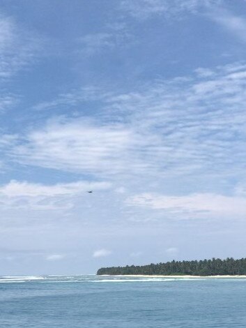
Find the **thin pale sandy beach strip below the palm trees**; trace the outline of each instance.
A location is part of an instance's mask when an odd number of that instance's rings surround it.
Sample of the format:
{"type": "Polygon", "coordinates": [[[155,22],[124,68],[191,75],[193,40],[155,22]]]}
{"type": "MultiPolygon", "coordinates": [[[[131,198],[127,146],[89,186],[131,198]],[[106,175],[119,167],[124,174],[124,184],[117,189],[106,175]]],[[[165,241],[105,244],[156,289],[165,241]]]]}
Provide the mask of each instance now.
{"type": "Polygon", "coordinates": [[[108,276],[108,277],[132,277],[132,278],[210,278],[210,279],[222,279],[222,278],[246,278],[246,275],[242,276],[229,276],[229,275],[224,275],[224,276],[190,276],[190,275],[185,275],[185,276],[162,276],[162,275],[148,275],[148,274],[100,274],[98,276],[108,276]]]}

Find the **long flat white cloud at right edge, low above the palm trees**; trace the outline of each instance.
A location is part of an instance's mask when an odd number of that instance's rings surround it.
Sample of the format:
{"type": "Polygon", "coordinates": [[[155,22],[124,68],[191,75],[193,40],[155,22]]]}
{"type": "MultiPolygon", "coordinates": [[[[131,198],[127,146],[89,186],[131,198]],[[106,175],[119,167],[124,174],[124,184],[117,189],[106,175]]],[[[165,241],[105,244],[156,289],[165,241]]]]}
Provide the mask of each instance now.
{"type": "Polygon", "coordinates": [[[246,198],[197,193],[184,196],[144,193],[129,197],[127,204],[135,207],[162,210],[169,218],[245,218],[246,198]]]}

